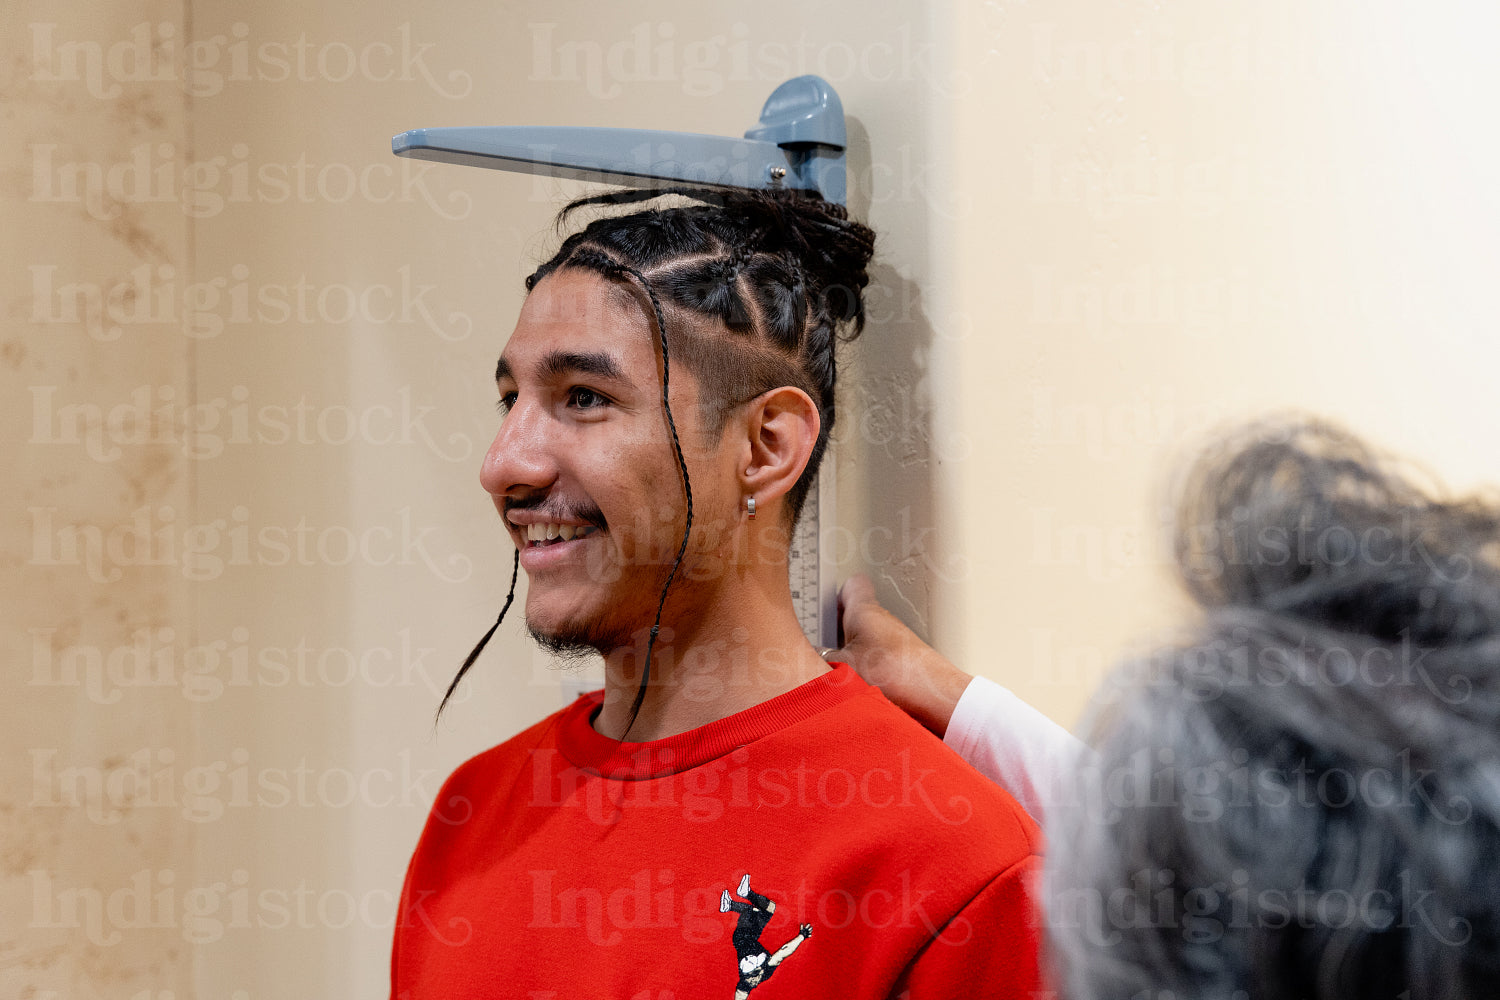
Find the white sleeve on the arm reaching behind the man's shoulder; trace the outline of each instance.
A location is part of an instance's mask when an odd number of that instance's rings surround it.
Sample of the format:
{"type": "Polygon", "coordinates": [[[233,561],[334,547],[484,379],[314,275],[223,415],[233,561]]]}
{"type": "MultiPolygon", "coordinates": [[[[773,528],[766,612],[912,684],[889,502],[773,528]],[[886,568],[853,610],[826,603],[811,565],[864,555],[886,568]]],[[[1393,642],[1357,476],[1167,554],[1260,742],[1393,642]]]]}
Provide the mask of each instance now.
{"type": "Polygon", "coordinates": [[[1011,793],[1038,823],[1077,766],[1083,744],[988,678],[963,690],[944,742],[1011,793]]]}

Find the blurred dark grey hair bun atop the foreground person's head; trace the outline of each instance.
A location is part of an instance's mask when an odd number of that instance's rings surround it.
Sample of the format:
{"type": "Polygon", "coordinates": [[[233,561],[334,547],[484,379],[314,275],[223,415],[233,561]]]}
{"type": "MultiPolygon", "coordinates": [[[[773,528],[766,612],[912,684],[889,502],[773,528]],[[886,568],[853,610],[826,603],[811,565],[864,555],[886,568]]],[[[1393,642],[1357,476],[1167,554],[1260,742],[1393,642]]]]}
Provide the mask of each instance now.
{"type": "Polygon", "coordinates": [[[1176,556],[1204,607],[1382,642],[1500,633],[1500,510],[1434,499],[1324,421],[1258,421],[1210,448],[1182,490],[1176,556]]]}

